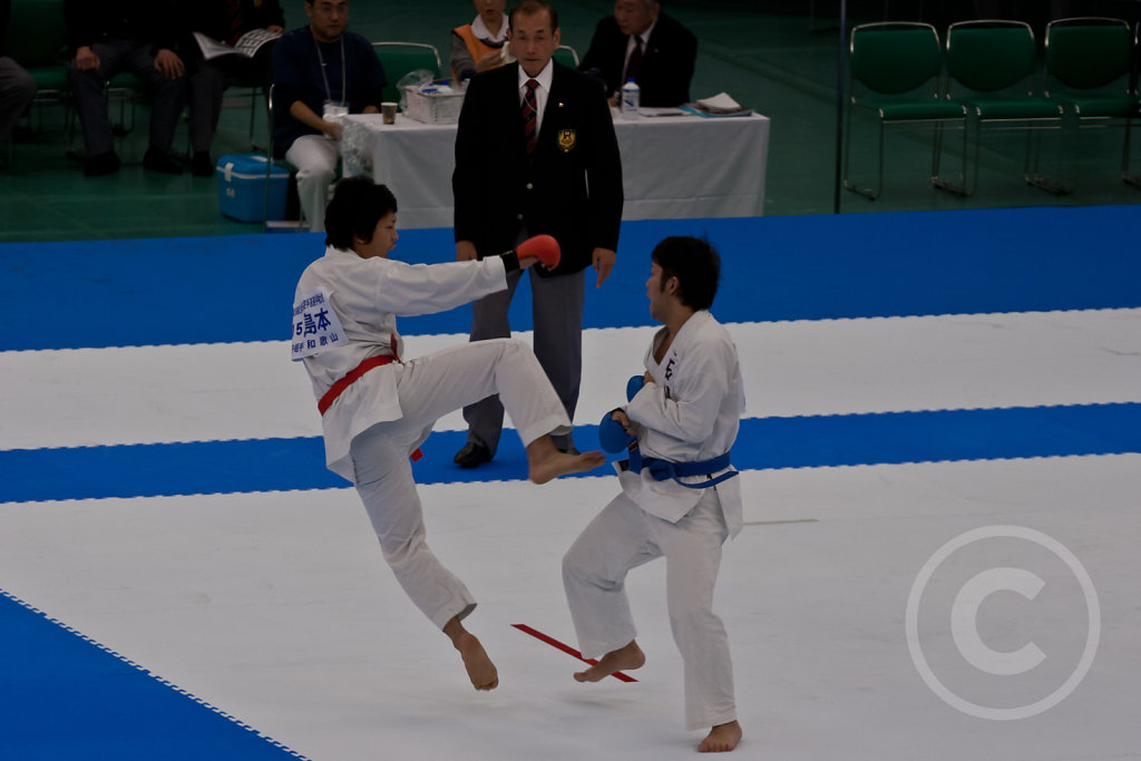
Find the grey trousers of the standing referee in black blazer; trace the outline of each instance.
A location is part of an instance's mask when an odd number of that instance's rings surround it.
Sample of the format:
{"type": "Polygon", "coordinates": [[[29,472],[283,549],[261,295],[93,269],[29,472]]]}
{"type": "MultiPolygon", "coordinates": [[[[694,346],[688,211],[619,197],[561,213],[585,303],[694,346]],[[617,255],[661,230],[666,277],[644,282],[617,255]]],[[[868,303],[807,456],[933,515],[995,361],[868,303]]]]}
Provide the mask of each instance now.
{"type": "MultiPolygon", "coordinates": [[[[563,400],[567,418],[574,420],[582,383],[582,308],[585,298],[585,270],[558,277],[540,277],[532,267],[532,319],[534,349],[539,364],[563,400]]],[[[508,307],[519,285],[521,270],[508,274],[505,291],[486,296],[471,305],[471,340],[511,335],[508,307]]],[[[491,396],[463,408],[468,440],[483,444],[494,455],[503,432],[503,405],[491,396]]],[[[573,446],[569,435],[552,436],[560,448],[573,446]]]]}

